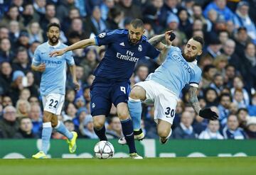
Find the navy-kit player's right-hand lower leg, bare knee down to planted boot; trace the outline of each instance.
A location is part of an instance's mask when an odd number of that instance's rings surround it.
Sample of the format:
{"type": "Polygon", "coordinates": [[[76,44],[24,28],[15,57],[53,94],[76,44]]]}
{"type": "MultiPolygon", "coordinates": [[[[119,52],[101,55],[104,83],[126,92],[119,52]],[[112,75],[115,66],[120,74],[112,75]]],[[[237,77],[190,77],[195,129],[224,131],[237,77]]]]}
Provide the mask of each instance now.
{"type": "Polygon", "coordinates": [[[137,154],[137,150],[135,148],[134,130],[132,120],[129,118],[127,103],[119,103],[117,105],[117,115],[121,121],[122,132],[129,147],[129,156],[132,159],[142,159],[142,157],[137,154]]]}

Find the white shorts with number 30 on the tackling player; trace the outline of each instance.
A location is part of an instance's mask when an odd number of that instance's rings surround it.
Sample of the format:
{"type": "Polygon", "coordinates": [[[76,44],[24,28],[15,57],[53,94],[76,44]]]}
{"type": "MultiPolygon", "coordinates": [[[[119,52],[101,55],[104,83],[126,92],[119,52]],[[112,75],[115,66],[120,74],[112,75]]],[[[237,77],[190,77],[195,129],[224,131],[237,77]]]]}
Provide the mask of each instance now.
{"type": "Polygon", "coordinates": [[[144,103],[154,102],[154,120],[165,120],[173,123],[178,98],[166,87],[156,83],[156,81],[141,81],[134,86],[142,86],[146,91],[146,100],[144,103]]]}

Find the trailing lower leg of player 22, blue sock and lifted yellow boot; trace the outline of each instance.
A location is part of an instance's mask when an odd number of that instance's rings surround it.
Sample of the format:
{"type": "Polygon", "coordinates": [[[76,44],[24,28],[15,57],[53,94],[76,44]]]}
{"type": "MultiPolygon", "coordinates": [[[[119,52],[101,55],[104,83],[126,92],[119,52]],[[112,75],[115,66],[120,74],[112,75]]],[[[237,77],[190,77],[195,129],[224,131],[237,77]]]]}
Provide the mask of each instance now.
{"type": "MultiPolygon", "coordinates": [[[[57,118],[57,116],[55,117],[57,118]]],[[[58,125],[55,126],[55,129],[68,138],[67,142],[69,152],[74,153],[77,148],[75,141],[78,137],[78,133],[75,131],[70,132],[61,121],[58,121],[58,125]]]]}

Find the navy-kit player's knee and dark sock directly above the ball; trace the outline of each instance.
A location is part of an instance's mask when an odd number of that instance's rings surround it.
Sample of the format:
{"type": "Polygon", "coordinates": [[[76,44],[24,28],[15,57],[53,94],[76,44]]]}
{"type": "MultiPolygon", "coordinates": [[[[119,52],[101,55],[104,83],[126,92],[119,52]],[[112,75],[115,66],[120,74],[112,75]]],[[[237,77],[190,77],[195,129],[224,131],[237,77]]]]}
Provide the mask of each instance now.
{"type": "Polygon", "coordinates": [[[95,115],[93,116],[93,130],[100,141],[107,141],[106,128],[105,128],[105,115],[95,115]]]}

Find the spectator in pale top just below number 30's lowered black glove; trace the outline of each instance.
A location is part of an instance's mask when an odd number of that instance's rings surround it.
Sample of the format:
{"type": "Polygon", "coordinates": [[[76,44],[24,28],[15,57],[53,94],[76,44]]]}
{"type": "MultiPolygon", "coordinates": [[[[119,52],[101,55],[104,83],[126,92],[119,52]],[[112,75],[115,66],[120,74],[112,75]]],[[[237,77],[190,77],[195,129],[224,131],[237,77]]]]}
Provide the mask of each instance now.
{"type": "Polygon", "coordinates": [[[198,139],[203,140],[223,140],[223,135],[219,132],[220,122],[218,120],[209,120],[206,130],[201,132],[198,136],[198,139]]]}

